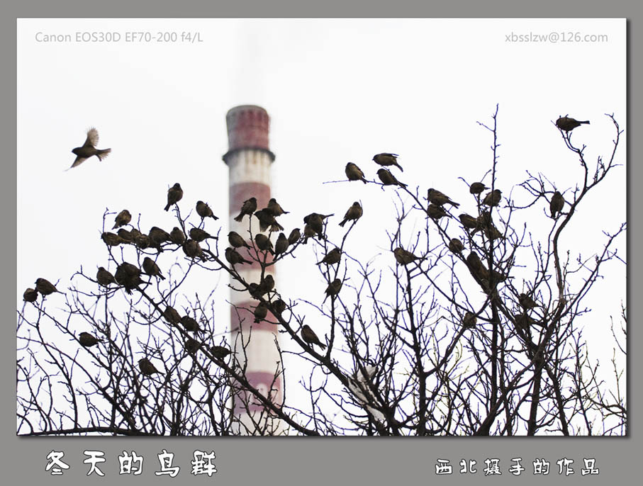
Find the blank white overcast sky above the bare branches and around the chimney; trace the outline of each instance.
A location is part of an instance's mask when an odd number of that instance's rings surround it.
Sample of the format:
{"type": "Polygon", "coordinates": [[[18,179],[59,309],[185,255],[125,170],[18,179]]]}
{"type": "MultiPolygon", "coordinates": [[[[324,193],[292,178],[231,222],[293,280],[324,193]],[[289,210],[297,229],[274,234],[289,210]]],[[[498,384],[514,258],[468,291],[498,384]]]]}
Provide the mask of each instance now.
{"type": "MultiPolygon", "coordinates": [[[[145,232],[152,225],[171,230],[174,214],[162,209],[174,182],[184,188],[183,215],[196,200],[206,200],[227,234],[228,167],[221,156],[228,149],[225,113],[233,106],[257,104],[271,116],[272,194],[291,211],[280,218],[286,230],[303,227],[301,218],[312,211],[341,217],[353,200],[362,200],[364,217],[347,249],[367,261],[386,249],[385,235],[373,242],[371,233],[391,227],[393,189],[322,184],[345,179],[346,162],[372,179],[379,166],[371,157],[396,152],[401,181],[420,185],[423,193],[439,188],[473,212],[457,177],[478,180],[490,167],[491,137],[476,121],[491,123],[498,103],[497,186],[508,195],[529,169],[547,174],[563,191],[581,171],[552,120],[566,113],[591,120],[573,138],[588,145],[588,161],[607,155],[614,131],[604,113],[614,113],[627,130],[625,74],[623,19],[21,19],[18,306],[24,288],[39,276],[60,278],[64,289],[81,264],[94,276],[106,263],[100,239],[106,208],[142,214],[145,232]],[[122,38],[35,40],[38,32],[75,38],[82,31],[122,38]],[[133,31],[176,32],[179,38],[199,32],[203,42],[125,43],[125,33],[133,31]],[[608,41],[505,42],[506,34],[530,31],[603,34],[608,41]],[[94,157],[65,171],[74,160],[70,150],[82,145],[90,126],[99,130],[99,148],[113,152],[104,162],[94,157]]],[[[625,137],[617,162],[625,164],[625,137]]],[[[602,230],[614,232],[625,221],[625,175],[625,167],[613,170],[581,206],[573,231],[561,241],[572,254],[600,251],[602,230]]],[[[518,202],[525,196],[513,194],[518,202]]],[[[530,230],[546,234],[551,220],[539,220],[544,226],[530,230]]],[[[339,221],[332,225],[337,240],[339,221]]],[[[217,228],[208,221],[206,230],[217,228]]],[[[625,237],[618,247],[625,259],[625,237]]],[[[179,261],[182,256],[179,251],[179,261]]],[[[393,264],[391,254],[383,258],[393,264]]],[[[278,267],[281,294],[320,303],[325,283],[315,261],[310,244],[296,260],[284,261],[278,267]]],[[[186,293],[206,294],[212,275],[186,293]]],[[[215,275],[222,279],[216,300],[225,321],[228,278],[215,275]]],[[[608,332],[608,316],[617,317],[625,299],[625,267],[613,262],[604,275],[586,325],[596,329],[593,323],[604,322],[608,332]]],[[[321,334],[324,325],[318,324],[321,334]]],[[[225,329],[219,326],[223,321],[217,327],[225,329]]],[[[593,342],[600,339],[597,334],[593,342]]],[[[591,343],[590,350],[600,351],[591,343]]],[[[611,357],[611,345],[603,351],[611,357]]]]}

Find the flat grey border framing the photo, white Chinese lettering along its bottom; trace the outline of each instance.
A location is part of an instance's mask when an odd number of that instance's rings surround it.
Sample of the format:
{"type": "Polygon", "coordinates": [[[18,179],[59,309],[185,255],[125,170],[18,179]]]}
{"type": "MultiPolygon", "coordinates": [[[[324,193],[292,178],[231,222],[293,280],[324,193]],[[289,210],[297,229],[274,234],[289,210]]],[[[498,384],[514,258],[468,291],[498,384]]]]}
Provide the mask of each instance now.
{"type": "MultiPolygon", "coordinates": [[[[507,482],[515,480],[522,484],[604,484],[622,480],[628,484],[630,477],[636,477],[640,460],[642,441],[637,436],[636,414],[631,414],[629,436],[626,438],[570,438],[570,439],[250,439],[250,438],[186,438],[186,439],[145,439],[145,438],[18,438],[16,436],[16,399],[15,399],[15,366],[16,346],[15,331],[11,322],[16,322],[15,291],[16,291],[16,239],[11,234],[16,232],[16,19],[17,18],[55,18],[55,17],[124,17],[124,18],[179,18],[179,17],[610,17],[627,18],[628,46],[628,115],[625,128],[628,133],[636,133],[640,115],[641,101],[637,91],[631,86],[639,86],[641,79],[641,56],[634,55],[636,48],[642,45],[641,35],[637,31],[639,21],[643,16],[641,4],[625,0],[610,2],[598,0],[541,0],[517,5],[515,1],[496,0],[479,2],[474,0],[452,1],[448,5],[421,5],[413,0],[398,0],[395,2],[383,0],[326,0],[311,5],[302,5],[296,0],[275,0],[271,2],[229,1],[227,4],[204,5],[205,2],[196,0],[111,0],[104,2],[89,2],[79,0],[59,0],[50,2],[21,1],[1,7],[0,16],[0,45],[2,60],[7,64],[1,78],[2,125],[0,130],[1,146],[7,147],[8,157],[2,165],[0,179],[2,198],[2,225],[5,228],[5,238],[2,244],[3,252],[0,259],[2,292],[0,299],[2,315],[5,324],[1,326],[2,366],[1,379],[5,383],[6,392],[0,400],[2,451],[2,479],[4,484],[26,482],[40,484],[51,482],[65,485],[86,485],[86,482],[109,484],[118,481],[122,484],[146,485],[152,482],[204,482],[213,481],[225,485],[248,484],[300,484],[326,485],[331,482],[345,484],[404,484],[445,482],[466,484],[468,481],[487,483],[507,482]],[[632,123],[634,122],[634,123],[632,123]],[[12,231],[13,230],[13,231],[12,231]],[[639,446],[637,446],[637,443],[639,446]],[[174,453],[174,465],[181,467],[179,475],[156,477],[153,473],[159,470],[157,453],[162,449],[174,453]],[[64,460],[71,466],[62,476],[51,476],[45,472],[46,456],[50,451],[64,451],[64,460]],[[83,464],[84,451],[104,451],[106,463],[101,469],[105,477],[92,475],[87,477],[88,466],[83,464]],[[190,474],[190,460],[195,450],[215,451],[218,473],[212,477],[207,475],[194,476],[190,474]],[[136,451],[144,457],[144,472],[140,476],[119,476],[117,456],[123,451],[136,451]],[[503,474],[501,476],[484,477],[483,458],[496,457],[501,459],[503,474]],[[506,468],[510,459],[522,457],[522,465],[527,468],[520,477],[510,475],[506,468]],[[531,462],[535,458],[547,458],[552,462],[549,476],[534,476],[531,462]],[[555,461],[559,458],[574,459],[574,475],[559,476],[555,461]],[[599,475],[581,476],[583,467],[581,458],[596,458],[600,469],[599,475]],[[450,476],[436,476],[435,463],[437,458],[451,460],[454,473],[450,476]],[[458,462],[462,458],[477,459],[478,473],[476,475],[460,475],[458,462]],[[282,465],[279,466],[281,460],[282,465]],[[252,466],[250,465],[252,461],[252,466]]],[[[592,69],[588,67],[588,76],[592,69]]],[[[627,137],[628,140],[636,137],[627,137]]],[[[35,140],[37,142],[37,140],[35,140]]],[[[627,160],[634,160],[632,150],[640,152],[634,143],[628,143],[627,160]]],[[[628,186],[628,222],[629,216],[637,214],[631,208],[637,208],[642,202],[643,195],[630,188],[636,187],[632,181],[641,177],[637,164],[627,164],[628,186]]],[[[628,249],[630,244],[640,237],[637,223],[628,228],[628,249]]],[[[628,315],[637,315],[639,301],[632,299],[633,289],[641,285],[639,270],[640,262],[636,254],[628,252],[628,282],[627,292],[628,315]],[[632,257],[631,259],[629,257],[632,257]],[[633,312],[632,312],[633,309],[633,312]]],[[[637,349],[637,325],[630,325],[628,349],[637,349]]],[[[628,354],[629,370],[638,369],[641,358],[637,354],[628,354]]],[[[641,387],[637,380],[630,379],[628,374],[628,403],[637,405],[641,397],[641,387]]]]}

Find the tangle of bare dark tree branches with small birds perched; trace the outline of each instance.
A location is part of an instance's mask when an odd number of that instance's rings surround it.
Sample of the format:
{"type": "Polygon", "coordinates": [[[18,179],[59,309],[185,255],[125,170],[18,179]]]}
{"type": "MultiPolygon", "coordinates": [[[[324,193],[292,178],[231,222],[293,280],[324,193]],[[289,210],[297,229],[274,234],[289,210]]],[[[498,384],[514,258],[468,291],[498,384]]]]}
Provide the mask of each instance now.
{"type": "MultiPolygon", "coordinates": [[[[274,434],[266,417],[284,424],[282,433],[301,435],[625,434],[624,370],[615,358],[614,380],[606,381],[579,324],[605,264],[625,263],[617,252],[625,222],[605,230],[592,254],[574,256],[561,244],[586,196],[617,167],[622,130],[608,115],[613,150],[591,163],[572,130],[554,126],[561,152],[580,164],[576,186],[560,191],[545,174],[527,171],[525,181],[498,192],[497,115],[496,108],[493,123],[480,123],[493,140],[488,171],[462,179],[465,191],[455,198],[471,198],[476,213],[459,214],[442,193],[425,196],[426,188],[380,176],[397,217],[395,227],[374,228],[390,242],[391,253],[379,259],[364,262],[347,250],[358,213],[336,241],[327,234],[331,217],[309,215],[303,237],[274,258],[259,248],[251,215],[250,249],[237,255],[258,262],[258,282],[237,273],[245,263],[224,256],[222,239],[196,243],[178,205],[174,237],[154,228],[144,234],[139,224],[111,242],[104,237],[113,283],[101,285],[81,268],[62,310],[49,305],[60,295],[18,310],[18,434],[274,434]],[[530,225],[516,222],[521,215],[530,225]],[[536,220],[546,234],[530,232],[536,220]],[[422,230],[405,246],[418,221],[422,230]],[[321,304],[282,295],[266,272],[311,242],[320,259],[327,256],[318,265],[328,285],[321,304]],[[283,400],[247,379],[247,342],[230,342],[213,288],[205,297],[181,294],[186,281],[213,272],[254,298],[255,307],[239,312],[272,322],[296,349],[279,348],[281,363],[290,363],[274,371],[275,381],[284,379],[283,400]],[[330,323],[328,333],[302,332],[311,314],[330,323]],[[288,399],[290,380],[302,383],[308,400],[288,399]],[[241,423],[240,410],[257,403],[263,412],[241,423]]],[[[350,183],[380,183],[354,174],[350,183]]],[[[198,227],[205,225],[201,218],[198,227]]],[[[621,315],[614,347],[625,355],[625,307],[621,315]]]]}

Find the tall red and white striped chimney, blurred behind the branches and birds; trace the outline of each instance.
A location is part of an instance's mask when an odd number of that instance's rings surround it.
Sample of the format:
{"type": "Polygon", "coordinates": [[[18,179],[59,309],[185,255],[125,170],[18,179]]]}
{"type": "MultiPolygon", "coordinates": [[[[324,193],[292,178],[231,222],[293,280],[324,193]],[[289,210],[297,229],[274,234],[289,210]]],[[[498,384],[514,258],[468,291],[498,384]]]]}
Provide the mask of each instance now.
{"type": "MultiPolygon", "coordinates": [[[[237,222],[234,217],[239,214],[245,200],[253,196],[257,198],[259,210],[266,207],[271,197],[270,166],[274,162],[274,154],[268,144],[270,118],[260,106],[243,105],[230,109],[225,120],[228,123],[229,149],[223,156],[223,161],[230,170],[230,231],[249,240],[248,230],[252,228],[252,235],[257,234],[259,220],[252,215],[250,221],[248,216],[244,216],[241,222],[237,222]]],[[[239,251],[247,258],[241,250],[244,249],[240,248],[239,251]]],[[[272,261],[270,255],[267,261],[272,261]]],[[[257,262],[252,265],[237,265],[235,269],[247,283],[261,281],[261,266],[257,262]]],[[[274,266],[269,266],[267,273],[275,276],[274,266]]],[[[236,287],[239,288],[238,285],[236,287]]],[[[245,375],[250,384],[264,396],[270,395],[275,404],[281,405],[284,395],[281,362],[275,344],[275,340],[279,339],[276,325],[266,321],[255,324],[252,310],[257,305],[257,300],[253,300],[249,293],[231,290],[230,301],[230,338],[236,351],[235,356],[242,366],[247,365],[245,375]],[[277,373],[279,376],[275,379],[277,373]]],[[[274,322],[272,314],[268,313],[267,318],[274,322]]],[[[251,431],[255,429],[257,422],[268,434],[279,434],[284,429],[280,421],[272,419],[271,414],[250,396],[235,397],[234,407],[235,415],[251,431]],[[245,402],[249,402],[250,407],[246,407],[245,402]]],[[[238,432],[247,433],[243,426],[238,432]]]]}

